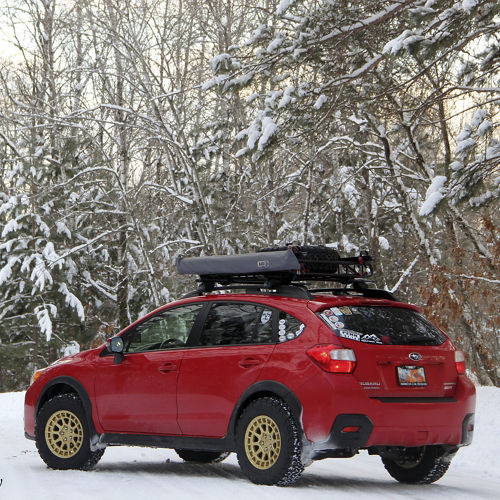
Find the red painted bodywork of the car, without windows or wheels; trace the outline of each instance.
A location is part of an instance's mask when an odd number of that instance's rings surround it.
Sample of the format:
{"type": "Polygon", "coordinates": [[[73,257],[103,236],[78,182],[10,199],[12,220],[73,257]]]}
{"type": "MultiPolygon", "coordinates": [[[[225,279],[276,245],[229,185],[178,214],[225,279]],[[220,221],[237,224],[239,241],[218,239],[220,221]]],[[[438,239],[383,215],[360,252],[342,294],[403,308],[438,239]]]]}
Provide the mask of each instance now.
{"type": "MultiPolygon", "coordinates": [[[[263,304],[294,316],[306,328],[286,342],[125,354],[117,365],[113,356],[101,356],[105,346],[66,358],[47,368],[28,389],[26,432],[34,435],[34,412],[46,384],[64,376],[77,380],[87,393],[98,433],[223,437],[245,390],[259,381],[275,381],[301,403],[301,424],[313,442],[328,438],[340,414],[366,415],[373,422],[366,446],[461,442],[464,417],[474,412],[475,389],[451,340],[414,346],[386,345],[382,339],[383,344],[374,346],[340,338],[316,314],[325,308],[361,305],[419,311],[415,306],[358,296],[318,295],[312,301],[250,294],[192,297],[153,311],[120,335],[170,307],[208,301],[263,304]],[[335,350],[352,351],[355,361],[325,358],[335,350]],[[409,358],[413,351],[422,356],[418,362],[409,358]],[[427,385],[400,385],[396,367],[412,365],[424,368],[427,385]],[[414,403],[411,398],[449,402],[414,403]]],[[[355,428],[347,426],[343,432],[357,432],[355,428]]]]}

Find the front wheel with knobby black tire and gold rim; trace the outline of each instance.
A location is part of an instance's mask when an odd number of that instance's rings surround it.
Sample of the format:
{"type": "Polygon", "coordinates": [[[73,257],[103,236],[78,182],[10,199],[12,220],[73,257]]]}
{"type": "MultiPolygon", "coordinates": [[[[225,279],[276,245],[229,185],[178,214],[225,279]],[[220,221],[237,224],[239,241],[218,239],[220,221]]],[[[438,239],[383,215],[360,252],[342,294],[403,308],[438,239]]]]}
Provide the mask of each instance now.
{"type": "Polygon", "coordinates": [[[75,394],[49,399],[36,417],[38,453],[51,469],[90,470],[104,449],[90,449],[90,431],[82,402],[75,394]]]}

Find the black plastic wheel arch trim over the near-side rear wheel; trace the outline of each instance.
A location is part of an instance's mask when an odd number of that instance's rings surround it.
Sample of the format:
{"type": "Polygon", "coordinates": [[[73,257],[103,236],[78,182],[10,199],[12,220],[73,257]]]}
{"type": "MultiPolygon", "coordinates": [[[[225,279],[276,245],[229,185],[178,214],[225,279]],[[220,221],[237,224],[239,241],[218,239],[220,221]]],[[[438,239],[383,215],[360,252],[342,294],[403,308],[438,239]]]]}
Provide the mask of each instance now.
{"type": "Polygon", "coordinates": [[[263,397],[278,397],[290,408],[295,421],[302,430],[302,405],[297,396],[286,385],[274,380],[262,380],[250,386],[240,397],[234,407],[229,421],[229,434],[236,435],[236,425],[243,410],[256,399],[263,397]]]}

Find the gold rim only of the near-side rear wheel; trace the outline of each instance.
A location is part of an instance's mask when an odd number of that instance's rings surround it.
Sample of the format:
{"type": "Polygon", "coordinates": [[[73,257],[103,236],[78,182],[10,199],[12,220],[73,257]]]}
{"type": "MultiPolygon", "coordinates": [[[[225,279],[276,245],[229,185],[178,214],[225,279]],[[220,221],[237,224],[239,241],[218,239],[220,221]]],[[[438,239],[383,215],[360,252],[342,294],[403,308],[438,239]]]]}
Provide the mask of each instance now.
{"type": "Polygon", "coordinates": [[[248,424],[245,451],[256,469],[269,469],[277,462],[281,451],[281,434],[271,417],[259,415],[248,424]]]}

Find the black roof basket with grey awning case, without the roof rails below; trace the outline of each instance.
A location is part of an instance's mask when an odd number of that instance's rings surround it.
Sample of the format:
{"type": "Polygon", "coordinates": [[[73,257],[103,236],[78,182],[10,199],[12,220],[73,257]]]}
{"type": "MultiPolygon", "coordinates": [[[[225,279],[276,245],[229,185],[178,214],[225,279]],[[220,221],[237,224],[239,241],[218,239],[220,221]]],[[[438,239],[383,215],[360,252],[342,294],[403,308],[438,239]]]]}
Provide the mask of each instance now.
{"type": "Polygon", "coordinates": [[[178,258],[176,261],[179,274],[200,276],[199,292],[210,292],[216,284],[223,285],[224,289],[245,284],[274,290],[288,285],[303,287],[304,281],[350,284],[372,276],[371,263],[372,258],[366,253],[340,258],[336,250],[319,245],[289,245],[249,254],[178,258]]]}

